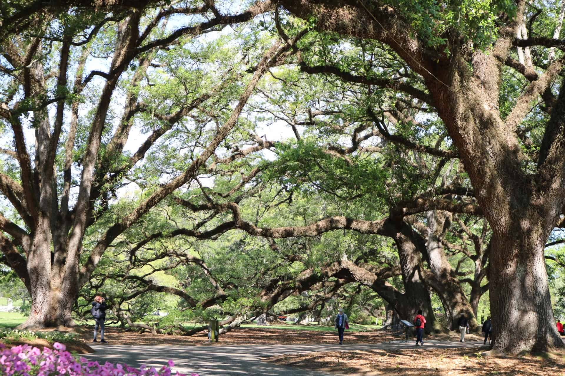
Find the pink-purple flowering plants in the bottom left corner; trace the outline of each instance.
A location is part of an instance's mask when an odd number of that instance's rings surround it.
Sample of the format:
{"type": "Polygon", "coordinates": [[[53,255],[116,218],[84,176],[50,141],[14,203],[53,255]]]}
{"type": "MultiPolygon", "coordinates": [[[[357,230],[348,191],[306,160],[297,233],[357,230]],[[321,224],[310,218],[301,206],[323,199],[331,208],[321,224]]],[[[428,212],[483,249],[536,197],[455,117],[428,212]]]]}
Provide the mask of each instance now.
{"type": "MultiPolygon", "coordinates": [[[[122,364],[99,364],[85,357],[75,359],[62,343],[55,343],[54,350],[27,344],[6,348],[0,343],[0,375],[6,376],[171,376],[171,367],[175,364],[168,361],[168,366],[159,370],[142,365],[140,369],[122,364]]],[[[176,373],[177,376],[186,376],[176,373]]],[[[191,376],[198,376],[192,373],[191,376]]]]}

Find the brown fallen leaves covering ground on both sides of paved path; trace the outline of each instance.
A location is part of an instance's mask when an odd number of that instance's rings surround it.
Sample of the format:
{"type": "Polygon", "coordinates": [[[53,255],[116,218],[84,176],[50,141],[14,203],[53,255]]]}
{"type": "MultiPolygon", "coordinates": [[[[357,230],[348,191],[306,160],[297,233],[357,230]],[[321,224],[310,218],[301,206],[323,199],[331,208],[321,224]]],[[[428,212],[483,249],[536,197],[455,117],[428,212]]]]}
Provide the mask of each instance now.
{"type": "MultiPolygon", "coordinates": [[[[293,328],[299,326],[293,326],[293,328]]],[[[88,328],[88,327],[84,327],[88,328]]],[[[91,333],[83,333],[83,342],[92,341],[91,333]]],[[[335,331],[296,330],[270,328],[237,328],[220,335],[218,343],[210,343],[206,332],[192,335],[139,333],[123,328],[106,327],[105,338],[110,344],[124,345],[228,345],[228,344],[337,344],[335,331]]],[[[383,343],[393,337],[381,330],[346,331],[346,344],[383,343]]],[[[458,332],[434,335],[432,339],[459,341],[458,332]]],[[[483,340],[478,334],[467,334],[467,340],[483,340]]],[[[477,350],[462,348],[415,347],[374,351],[346,351],[337,347],[332,352],[315,352],[301,355],[277,356],[267,361],[305,369],[324,370],[351,376],[565,376],[565,359],[553,356],[536,357],[477,357],[477,350]]],[[[483,348],[482,351],[486,350],[483,348]]]]}

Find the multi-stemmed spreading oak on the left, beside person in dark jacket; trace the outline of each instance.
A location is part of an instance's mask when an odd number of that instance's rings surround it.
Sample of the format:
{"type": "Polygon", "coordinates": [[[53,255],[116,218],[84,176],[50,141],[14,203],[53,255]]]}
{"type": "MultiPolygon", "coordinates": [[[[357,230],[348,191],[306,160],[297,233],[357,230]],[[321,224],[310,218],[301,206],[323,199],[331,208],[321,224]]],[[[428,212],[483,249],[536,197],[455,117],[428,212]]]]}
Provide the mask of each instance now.
{"type": "MultiPolygon", "coordinates": [[[[203,43],[195,36],[251,20],[266,10],[262,3],[233,15],[183,3],[121,8],[111,15],[64,8],[46,17],[34,13],[36,5],[2,5],[0,116],[11,141],[2,150],[0,190],[11,210],[0,217],[0,248],[32,296],[23,328],[73,325],[79,288],[107,247],[165,197],[193,182],[210,157],[219,159],[216,150],[237,127],[259,79],[291,55],[308,30],[280,43],[272,33],[254,29],[246,54],[223,47],[218,54],[225,60],[216,66],[221,57],[214,56],[214,43],[207,51],[194,49],[191,43],[203,43]],[[26,28],[10,29],[22,10],[29,16],[26,28]],[[169,31],[167,21],[179,15],[182,23],[169,31]],[[163,82],[174,90],[167,91],[163,82]],[[188,134],[189,153],[181,141],[169,143],[179,147],[175,164],[167,165],[175,158],[166,148],[164,169],[138,174],[145,172],[136,167],[144,158],[162,157],[163,135],[180,130],[188,134]],[[136,139],[133,152],[126,149],[131,139],[136,139]],[[119,215],[108,211],[122,184],[141,180],[147,194],[139,202],[119,215]],[[99,219],[106,225],[97,227],[96,241],[86,249],[85,234],[99,219]]],[[[248,140],[256,146],[250,152],[267,146],[248,140]]]]}

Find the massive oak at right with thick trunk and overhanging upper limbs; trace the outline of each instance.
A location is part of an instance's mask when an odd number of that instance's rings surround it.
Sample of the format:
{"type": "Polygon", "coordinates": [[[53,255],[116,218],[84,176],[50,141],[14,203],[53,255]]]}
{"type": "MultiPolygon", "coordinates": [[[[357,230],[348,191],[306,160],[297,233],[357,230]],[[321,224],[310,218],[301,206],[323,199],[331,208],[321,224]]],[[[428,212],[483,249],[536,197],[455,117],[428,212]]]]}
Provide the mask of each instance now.
{"type": "MultiPolygon", "coordinates": [[[[407,72],[418,75],[422,87],[415,94],[441,118],[493,229],[489,285],[494,350],[562,348],[544,262],[545,240],[565,200],[563,60],[560,52],[547,57],[551,48],[563,45],[559,33],[555,39],[547,29],[528,36],[527,25],[535,24],[536,15],[523,1],[485,2],[483,12],[471,12],[470,4],[438,3],[424,17],[413,12],[420,14],[418,7],[403,2],[281,4],[305,19],[315,15],[320,29],[382,43],[404,61],[407,72]],[[527,85],[510,102],[511,110],[502,112],[507,67],[527,85]],[[537,108],[545,115],[537,116],[537,108]]],[[[317,71],[350,78],[346,67],[317,71]]],[[[372,81],[367,74],[353,79],[372,81]]],[[[391,79],[374,83],[402,85],[391,79]]],[[[410,87],[399,90],[414,92],[410,87]]]]}

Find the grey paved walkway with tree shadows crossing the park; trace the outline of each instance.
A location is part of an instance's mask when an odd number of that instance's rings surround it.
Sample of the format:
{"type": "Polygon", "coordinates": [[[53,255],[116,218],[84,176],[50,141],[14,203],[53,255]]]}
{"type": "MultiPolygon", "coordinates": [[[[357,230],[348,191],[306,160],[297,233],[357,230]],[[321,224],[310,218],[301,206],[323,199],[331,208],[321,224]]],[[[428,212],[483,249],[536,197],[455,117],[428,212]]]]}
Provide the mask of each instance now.
{"type": "Polygon", "coordinates": [[[376,350],[390,348],[455,348],[480,347],[483,342],[438,342],[429,340],[423,347],[414,343],[381,344],[297,344],[288,345],[231,345],[231,346],[120,346],[113,344],[92,343],[96,351],[85,355],[86,358],[101,363],[125,363],[139,367],[142,364],[160,368],[169,359],[175,361],[173,371],[201,376],[328,376],[329,373],[301,370],[297,368],[271,364],[262,358],[295,353],[339,350],[376,350]]]}

